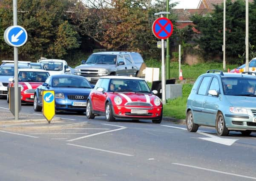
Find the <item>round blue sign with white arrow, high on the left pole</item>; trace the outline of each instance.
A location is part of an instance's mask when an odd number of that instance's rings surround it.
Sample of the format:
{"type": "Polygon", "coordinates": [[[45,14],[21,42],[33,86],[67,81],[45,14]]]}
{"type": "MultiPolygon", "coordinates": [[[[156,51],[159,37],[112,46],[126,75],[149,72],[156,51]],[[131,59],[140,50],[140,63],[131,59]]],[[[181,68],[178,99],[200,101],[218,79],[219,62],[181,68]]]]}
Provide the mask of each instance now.
{"type": "Polygon", "coordinates": [[[10,26],[4,32],[5,42],[13,47],[20,47],[24,45],[27,39],[27,31],[21,26],[10,26]]]}

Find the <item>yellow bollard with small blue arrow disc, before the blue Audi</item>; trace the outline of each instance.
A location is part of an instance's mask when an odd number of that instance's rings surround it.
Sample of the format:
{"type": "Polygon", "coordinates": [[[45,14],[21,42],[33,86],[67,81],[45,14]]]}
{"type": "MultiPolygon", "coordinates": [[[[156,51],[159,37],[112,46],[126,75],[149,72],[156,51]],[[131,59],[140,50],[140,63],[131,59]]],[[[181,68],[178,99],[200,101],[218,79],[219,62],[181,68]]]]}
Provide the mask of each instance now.
{"type": "Polygon", "coordinates": [[[43,100],[43,116],[46,118],[48,123],[51,123],[52,118],[55,115],[55,98],[54,98],[54,91],[49,90],[43,91],[42,95],[43,100]]]}

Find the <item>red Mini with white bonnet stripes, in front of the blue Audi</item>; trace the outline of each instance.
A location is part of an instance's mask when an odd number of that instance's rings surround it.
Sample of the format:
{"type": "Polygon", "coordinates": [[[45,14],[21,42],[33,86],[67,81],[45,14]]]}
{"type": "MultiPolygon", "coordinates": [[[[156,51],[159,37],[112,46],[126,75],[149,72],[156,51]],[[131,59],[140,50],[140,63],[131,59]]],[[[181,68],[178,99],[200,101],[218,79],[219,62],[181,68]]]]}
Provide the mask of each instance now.
{"type": "Polygon", "coordinates": [[[104,76],[92,89],[86,107],[86,116],[105,115],[106,121],[116,118],[148,119],[161,123],[162,102],[142,78],[104,76]]]}

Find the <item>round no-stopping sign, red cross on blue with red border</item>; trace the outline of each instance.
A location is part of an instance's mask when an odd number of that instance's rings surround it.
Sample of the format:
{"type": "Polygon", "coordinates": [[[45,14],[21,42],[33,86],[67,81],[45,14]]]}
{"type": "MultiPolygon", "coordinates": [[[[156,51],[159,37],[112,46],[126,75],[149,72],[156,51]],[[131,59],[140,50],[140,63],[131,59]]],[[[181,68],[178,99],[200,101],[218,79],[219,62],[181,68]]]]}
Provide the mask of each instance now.
{"type": "Polygon", "coordinates": [[[173,33],[173,23],[166,17],[158,18],[153,22],[152,31],[155,37],[167,39],[173,33]]]}

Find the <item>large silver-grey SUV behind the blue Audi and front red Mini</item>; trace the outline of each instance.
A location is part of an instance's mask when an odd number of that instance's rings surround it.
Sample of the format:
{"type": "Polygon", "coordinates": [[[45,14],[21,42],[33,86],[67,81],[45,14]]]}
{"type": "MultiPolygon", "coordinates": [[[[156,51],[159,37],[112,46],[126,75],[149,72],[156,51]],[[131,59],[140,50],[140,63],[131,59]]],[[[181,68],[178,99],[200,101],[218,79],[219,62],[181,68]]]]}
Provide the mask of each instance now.
{"type": "Polygon", "coordinates": [[[86,61],[75,67],[75,75],[82,75],[88,81],[96,82],[104,75],[136,76],[144,63],[139,53],[135,52],[100,52],[93,53],[86,61]]]}

